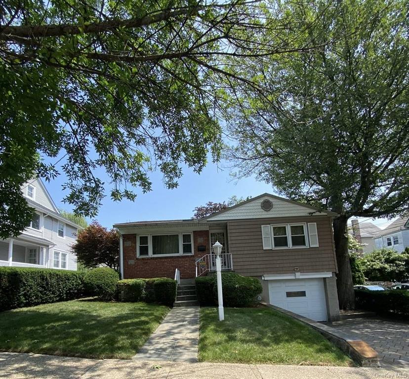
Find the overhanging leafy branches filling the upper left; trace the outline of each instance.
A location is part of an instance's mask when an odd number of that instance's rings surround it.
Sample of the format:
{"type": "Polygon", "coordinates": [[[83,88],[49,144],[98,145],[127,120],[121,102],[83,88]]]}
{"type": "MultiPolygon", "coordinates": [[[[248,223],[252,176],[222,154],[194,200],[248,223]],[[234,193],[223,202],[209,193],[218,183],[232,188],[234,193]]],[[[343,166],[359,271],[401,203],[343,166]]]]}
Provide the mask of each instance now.
{"type": "Polygon", "coordinates": [[[35,174],[63,173],[65,201],[93,217],[100,168],[134,200],[155,168],[174,188],[182,164],[218,160],[225,90],[260,91],[239,68],[302,48],[266,34],[292,27],[275,1],[1,1],[0,236],[30,219],[19,189],[35,174]]]}

